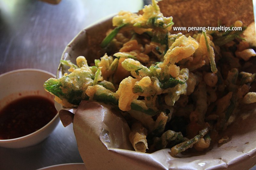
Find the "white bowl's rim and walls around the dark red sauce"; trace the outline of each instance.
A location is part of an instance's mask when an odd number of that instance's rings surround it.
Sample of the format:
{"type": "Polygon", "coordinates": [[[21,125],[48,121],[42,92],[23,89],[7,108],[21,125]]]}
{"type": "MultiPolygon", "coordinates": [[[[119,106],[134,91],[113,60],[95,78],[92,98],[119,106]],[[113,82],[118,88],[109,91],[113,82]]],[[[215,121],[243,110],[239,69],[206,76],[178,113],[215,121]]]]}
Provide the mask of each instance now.
{"type": "MultiPolygon", "coordinates": [[[[0,110],[13,100],[38,95],[53,101],[54,97],[44,90],[44,82],[55,77],[50,72],[38,69],[13,70],[0,75],[0,110]]],[[[38,144],[55,129],[60,122],[59,114],[44,127],[23,137],[0,140],[1,147],[23,148],[38,144]]]]}

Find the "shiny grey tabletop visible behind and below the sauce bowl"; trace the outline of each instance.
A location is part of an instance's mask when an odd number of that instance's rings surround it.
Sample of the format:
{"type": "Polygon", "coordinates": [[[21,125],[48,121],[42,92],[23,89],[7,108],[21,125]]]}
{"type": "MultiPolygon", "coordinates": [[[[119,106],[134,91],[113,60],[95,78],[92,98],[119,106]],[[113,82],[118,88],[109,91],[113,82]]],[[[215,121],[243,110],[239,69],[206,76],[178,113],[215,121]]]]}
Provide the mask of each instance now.
{"type": "MultiPolygon", "coordinates": [[[[0,74],[22,68],[56,74],[63,50],[80,30],[120,10],[136,12],[145,3],[148,0],[62,0],[58,5],[0,0],[0,74]]],[[[64,128],[61,122],[42,143],[21,149],[0,147],[0,155],[0,169],[83,162],[72,124],[64,128]]]]}

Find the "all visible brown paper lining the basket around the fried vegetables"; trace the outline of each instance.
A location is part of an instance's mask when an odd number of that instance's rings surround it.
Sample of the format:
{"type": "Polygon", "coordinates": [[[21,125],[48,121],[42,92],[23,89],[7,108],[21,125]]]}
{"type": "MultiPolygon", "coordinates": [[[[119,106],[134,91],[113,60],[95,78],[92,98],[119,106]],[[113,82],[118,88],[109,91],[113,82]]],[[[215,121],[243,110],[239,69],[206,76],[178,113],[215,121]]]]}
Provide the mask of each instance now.
{"type": "MultiPolygon", "coordinates": [[[[250,0],[163,0],[159,6],[165,16],[173,16],[174,26],[216,26],[218,19],[230,26],[242,20],[251,26],[247,37],[251,44],[255,43],[250,0]]],[[[92,63],[100,58],[99,44],[111,27],[110,17],[85,28],[68,44],[61,59],[75,63],[76,57],[83,55],[92,63]]],[[[67,69],[60,65],[57,77],[62,77],[67,69]]],[[[228,143],[214,144],[204,153],[177,157],[170,155],[170,149],[150,154],[135,152],[128,139],[127,123],[110,105],[82,101],[76,109],[56,107],[64,126],[73,122],[78,150],[87,169],[249,169],[256,164],[256,104],[242,107],[236,121],[222,134],[231,138],[228,143]]]]}

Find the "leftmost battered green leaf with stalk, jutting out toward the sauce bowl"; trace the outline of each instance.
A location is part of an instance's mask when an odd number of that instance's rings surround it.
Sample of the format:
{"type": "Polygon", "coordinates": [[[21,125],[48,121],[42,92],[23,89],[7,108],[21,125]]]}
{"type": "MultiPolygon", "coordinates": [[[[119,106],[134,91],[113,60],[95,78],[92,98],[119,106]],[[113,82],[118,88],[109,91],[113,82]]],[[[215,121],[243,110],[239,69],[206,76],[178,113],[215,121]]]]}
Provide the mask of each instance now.
{"type": "MultiPolygon", "coordinates": [[[[114,85],[106,80],[98,82],[101,74],[100,69],[93,73],[92,68],[89,66],[82,67],[62,78],[50,78],[44,83],[44,88],[63,100],[63,106],[67,107],[79,105],[81,100],[101,101],[118,105],[118,95],[112,92],[115,90],[114,85]],[[69,105],[65,105],[67,104],[65,101],[69,105]]],[[[143,104],[140,100],[134,100],[131,103],[131,108],[148,115],[156,115],[156,109],[144,105],[145,103],[143,104]]]]}

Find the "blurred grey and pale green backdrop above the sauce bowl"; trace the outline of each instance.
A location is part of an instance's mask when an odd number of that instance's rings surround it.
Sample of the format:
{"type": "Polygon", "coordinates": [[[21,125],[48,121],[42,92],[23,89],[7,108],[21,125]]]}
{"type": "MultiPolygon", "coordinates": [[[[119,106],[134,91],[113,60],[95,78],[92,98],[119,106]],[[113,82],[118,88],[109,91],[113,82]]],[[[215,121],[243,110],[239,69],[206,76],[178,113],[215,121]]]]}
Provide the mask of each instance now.
{"type": "Polygon", "coordinates": [[[120,10],[137,12],[144,3],[148,1],[62,0],[54,5],[0,0],[0,74],[21,68],[56,74],[65,46],[84,27],[120,10]]]}

